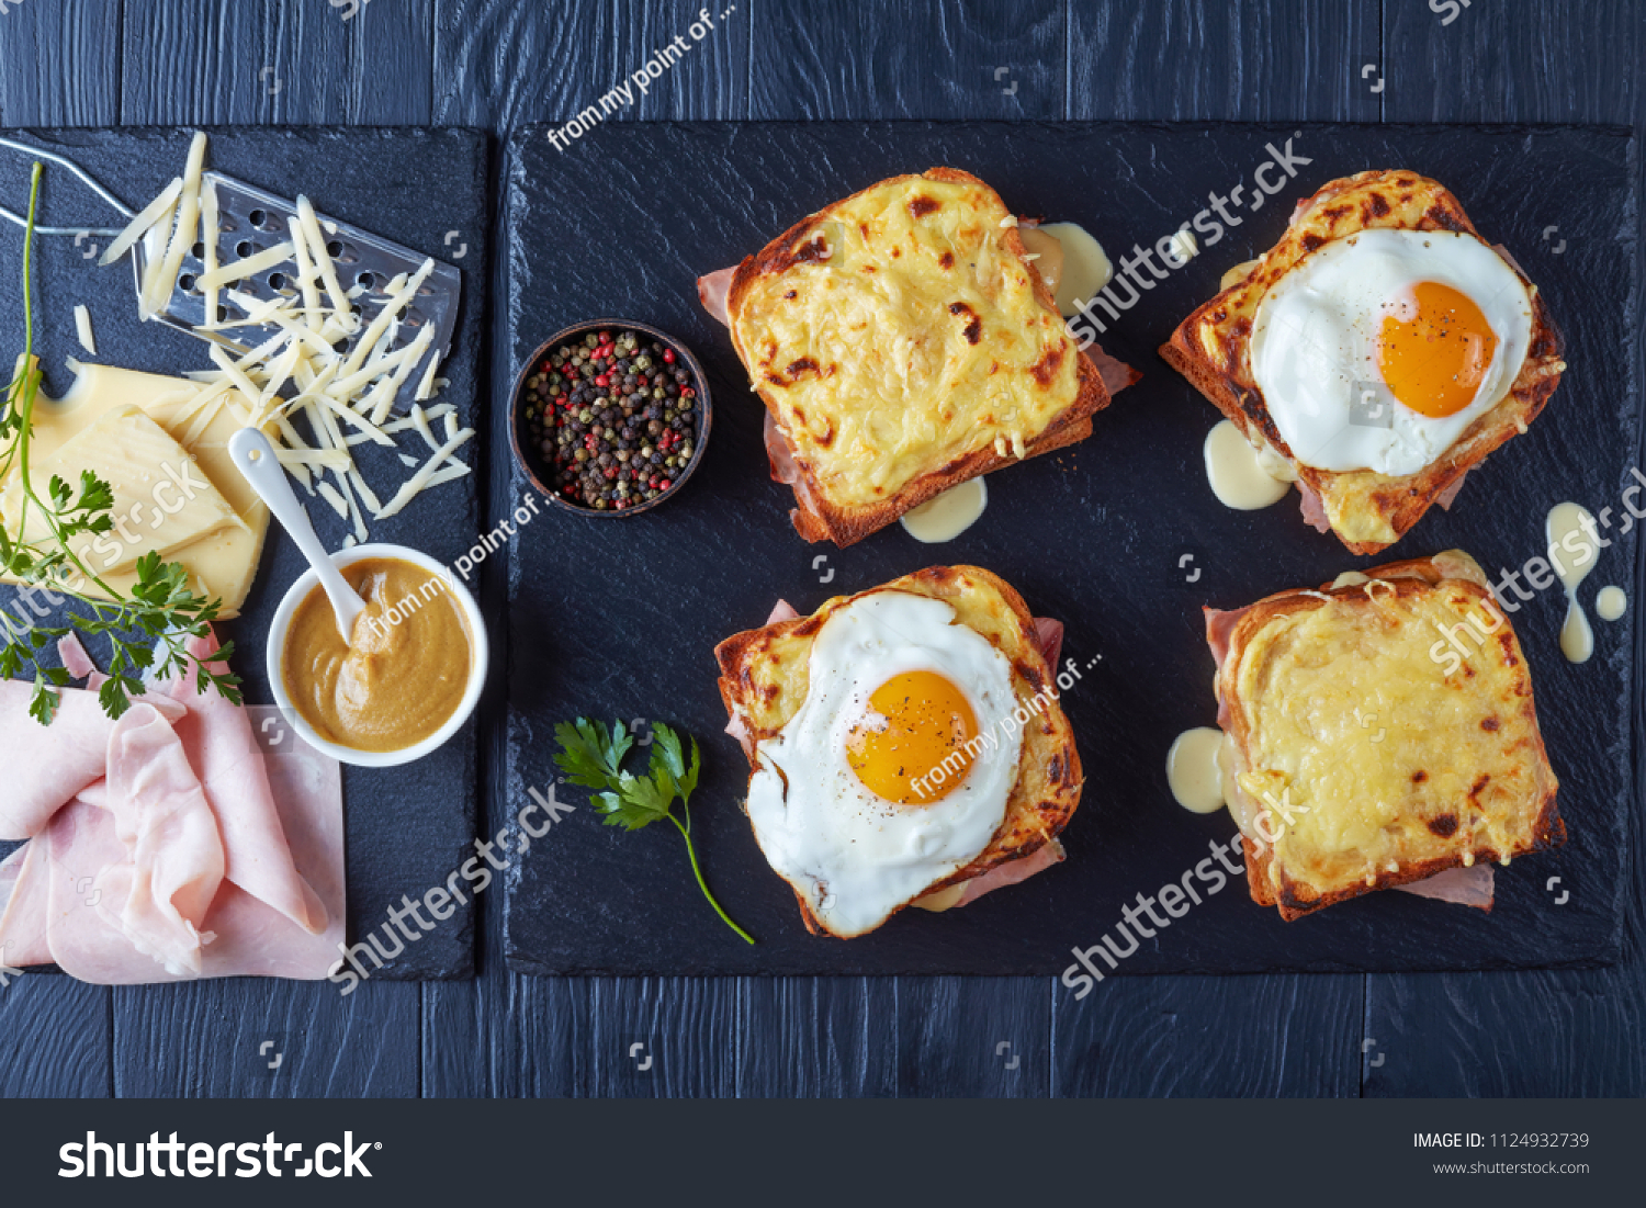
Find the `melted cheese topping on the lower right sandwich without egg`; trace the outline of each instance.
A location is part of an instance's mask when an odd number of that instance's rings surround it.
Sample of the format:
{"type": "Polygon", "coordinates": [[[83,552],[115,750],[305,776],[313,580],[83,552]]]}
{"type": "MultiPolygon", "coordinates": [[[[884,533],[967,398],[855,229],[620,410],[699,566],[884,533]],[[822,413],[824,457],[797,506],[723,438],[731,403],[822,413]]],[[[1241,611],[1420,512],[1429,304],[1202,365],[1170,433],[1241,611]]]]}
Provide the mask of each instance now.
{"type": "Polygon", "coordinates": [[[1554,777],[1490,597],[1452,581],[1325,599],[1238,655],[1239,785],[1269,813],[1271,880],[1327,894],[1417,861],[1527,849],[1554,777]]]}

